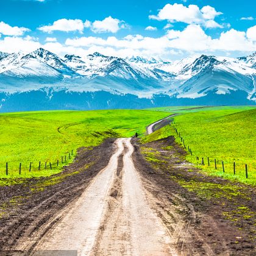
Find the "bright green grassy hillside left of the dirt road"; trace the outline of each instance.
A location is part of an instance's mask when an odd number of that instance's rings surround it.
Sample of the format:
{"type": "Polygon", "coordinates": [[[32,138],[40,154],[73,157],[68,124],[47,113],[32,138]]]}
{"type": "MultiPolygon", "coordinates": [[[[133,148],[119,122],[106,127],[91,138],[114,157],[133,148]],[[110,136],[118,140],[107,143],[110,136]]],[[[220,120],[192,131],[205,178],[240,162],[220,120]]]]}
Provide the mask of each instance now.
{"type": "MultiPolygon", "coordinates": [[[[96,146],[108,137],[130,137],[144,133],[146,126],[167,116],[148,110],[51,111],[0,115],[0,178],[49,176],[59,172],[57,159],[81,146],[96,146]],[[38,171],[38,163],[41,168],[38,171]],[[32,171],[29,165],[32,162],[32,171]],[[47,169],[44,164],[47,162],[47,169]],[[52,163],[52,170],[49,168],[52,163]],[[21,163],[21,175],[19,174],[21,163]]],[[[6,180],[2,180],[5,183],[6,180]]],[[[1,183],[1,181],[0,181],[1,183]]]]}

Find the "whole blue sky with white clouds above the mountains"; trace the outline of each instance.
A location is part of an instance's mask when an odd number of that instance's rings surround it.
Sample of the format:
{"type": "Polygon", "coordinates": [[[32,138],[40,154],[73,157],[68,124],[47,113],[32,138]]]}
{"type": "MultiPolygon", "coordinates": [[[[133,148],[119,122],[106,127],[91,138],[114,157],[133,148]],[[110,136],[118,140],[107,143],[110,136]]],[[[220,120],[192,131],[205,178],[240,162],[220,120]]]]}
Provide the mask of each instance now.
{"type": "Polygon", "coordinates": [[[255,0],[1,0],[0,51],[194,54],[256,51],[255,0]]]}

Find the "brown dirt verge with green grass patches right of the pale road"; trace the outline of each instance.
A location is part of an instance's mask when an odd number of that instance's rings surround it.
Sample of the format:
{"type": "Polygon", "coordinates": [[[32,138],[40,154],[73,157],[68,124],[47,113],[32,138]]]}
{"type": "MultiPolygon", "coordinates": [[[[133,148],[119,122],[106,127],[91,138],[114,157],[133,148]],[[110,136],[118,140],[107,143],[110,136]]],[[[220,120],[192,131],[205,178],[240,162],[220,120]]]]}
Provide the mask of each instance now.
{"type": "Polygon", "coordinates": [[[144,187],[181,255],[255,255],[254,188],[203,175],[173,137],[132,143],[144,187]]]}

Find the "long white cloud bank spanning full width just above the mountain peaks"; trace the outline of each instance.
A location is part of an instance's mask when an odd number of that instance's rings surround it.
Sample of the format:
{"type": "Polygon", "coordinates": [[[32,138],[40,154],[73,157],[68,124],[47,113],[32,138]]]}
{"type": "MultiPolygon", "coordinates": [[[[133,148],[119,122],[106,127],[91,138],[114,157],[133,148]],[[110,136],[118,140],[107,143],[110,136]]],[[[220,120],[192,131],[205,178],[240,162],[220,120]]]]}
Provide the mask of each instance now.
{"type": "Polygon", "coordinates": [[[229,29],[222,32],[218,38],[212,38],[199,24],[188,24],[183,30],[169,29],[165,35],[158,38],[138,34],[123,38],[89,36],[67,38],[65,43],[60,43],[56,38],[48,37],[44,44],[40,44],[38,38],[30,36],[4,37],[0,38],[0,51],[30,52],[43,47],[60,55],[66,53],[85,55],[98,51],[105,55],[120,57],[145,55],[171,59],[172,55],[219,54],[219,52],[246,54],[256,51],[255,35],[256,26],[250,27],[247,32],[229,29]]]}

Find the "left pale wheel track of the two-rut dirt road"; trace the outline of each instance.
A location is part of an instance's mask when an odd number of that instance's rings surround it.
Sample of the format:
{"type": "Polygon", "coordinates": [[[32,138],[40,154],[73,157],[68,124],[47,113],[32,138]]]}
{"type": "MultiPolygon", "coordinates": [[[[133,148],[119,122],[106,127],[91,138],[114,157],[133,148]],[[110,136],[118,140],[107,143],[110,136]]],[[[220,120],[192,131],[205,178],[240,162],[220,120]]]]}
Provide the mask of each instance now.
{"type": "Polygon", "coordinates": [[[123,152],[123,140],[118,146],[107,167],[99,172],[77,201],[65,212],[62,220],[38,243],[35,250],[77,250],[79,255],[88,255],[95,243],[102,216],[107,208],[107,194],[112,187],[118,157],[123,152]]]}

